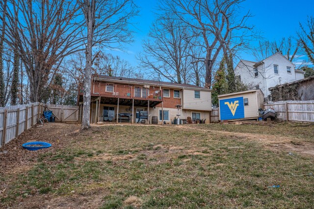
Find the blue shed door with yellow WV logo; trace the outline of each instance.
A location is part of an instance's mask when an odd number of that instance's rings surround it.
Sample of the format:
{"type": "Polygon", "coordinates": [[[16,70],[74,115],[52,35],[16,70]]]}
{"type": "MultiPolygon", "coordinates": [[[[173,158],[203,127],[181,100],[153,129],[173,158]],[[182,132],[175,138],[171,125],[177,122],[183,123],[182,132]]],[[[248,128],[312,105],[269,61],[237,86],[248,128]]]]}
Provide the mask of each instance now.
{"type": "Polygon", "coordinates": [[[219,101],[220,120],[244,118],[243,97],[224,99],[219,101]]]}

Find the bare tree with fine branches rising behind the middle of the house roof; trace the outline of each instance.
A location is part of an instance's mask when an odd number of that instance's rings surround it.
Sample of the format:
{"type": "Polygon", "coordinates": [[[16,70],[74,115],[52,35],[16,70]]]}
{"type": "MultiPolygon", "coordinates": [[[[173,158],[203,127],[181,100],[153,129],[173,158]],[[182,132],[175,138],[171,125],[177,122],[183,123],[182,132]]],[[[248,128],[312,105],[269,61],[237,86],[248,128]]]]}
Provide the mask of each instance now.
{"type": "Polygon", "coordinates": [[[175,20],[173,15],[159,14],[151,26],[149,39],[143,41],[144,53],[138,56],[141,67],[171,82],[186,83],[191,39],[185,23],[175,20]]]}

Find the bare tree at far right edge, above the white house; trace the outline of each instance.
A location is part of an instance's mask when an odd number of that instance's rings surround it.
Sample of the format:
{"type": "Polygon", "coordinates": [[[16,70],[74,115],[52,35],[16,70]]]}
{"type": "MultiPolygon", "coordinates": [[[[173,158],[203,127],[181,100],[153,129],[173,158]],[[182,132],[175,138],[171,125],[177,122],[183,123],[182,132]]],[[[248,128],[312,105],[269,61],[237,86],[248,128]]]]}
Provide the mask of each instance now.
{"type": "Polygon", "coordinates": [[[314,64],[314,17],[308,17],[307,24],[300,23],[301,30],[297,33],[301,42],[302,49],[314,64]]]}

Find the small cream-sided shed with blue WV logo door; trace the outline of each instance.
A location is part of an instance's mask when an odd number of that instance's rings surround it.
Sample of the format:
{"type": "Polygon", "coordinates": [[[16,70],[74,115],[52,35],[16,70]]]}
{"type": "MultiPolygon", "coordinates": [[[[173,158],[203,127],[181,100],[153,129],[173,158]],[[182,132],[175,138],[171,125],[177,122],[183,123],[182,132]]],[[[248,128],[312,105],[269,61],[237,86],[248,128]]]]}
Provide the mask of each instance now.
{"type": "Polygon", "coordinates": [[[219,120],[258,119],[264,95],[260,89],[219,95],[219,120]]]}

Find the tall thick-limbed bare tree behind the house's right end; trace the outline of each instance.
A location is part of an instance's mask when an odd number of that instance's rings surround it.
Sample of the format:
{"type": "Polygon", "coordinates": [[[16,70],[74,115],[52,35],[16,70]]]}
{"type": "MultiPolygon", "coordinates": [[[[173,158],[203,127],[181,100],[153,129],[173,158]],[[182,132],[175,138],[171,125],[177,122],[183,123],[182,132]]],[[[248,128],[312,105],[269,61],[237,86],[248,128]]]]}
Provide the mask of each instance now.
{"type": "Polygon", "coordinates": [[[205,55],[194,57],[205,63],[205,87],[210,88],[213,65],[222,48],[231,44],[243,45],[252,27],[246,26],[249,13],[239,17],[240,3],[244,0],[168,0],[166,9],[189,25],[194,34],[203,38],[205,55]],[[243,31],[243,32],[242,32],[243,31]]]}

